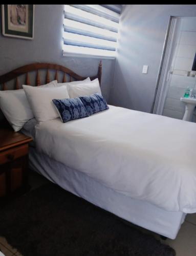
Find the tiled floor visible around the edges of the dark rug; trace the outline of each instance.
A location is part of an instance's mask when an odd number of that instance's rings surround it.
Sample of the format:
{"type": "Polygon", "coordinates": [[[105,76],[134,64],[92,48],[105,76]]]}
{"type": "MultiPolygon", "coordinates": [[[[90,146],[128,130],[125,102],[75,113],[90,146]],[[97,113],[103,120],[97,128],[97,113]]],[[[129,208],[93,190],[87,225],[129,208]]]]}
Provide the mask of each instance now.
{"type": "MultiPolygon", "coordinates": [[[[29,183],[32,189],[35,189],[49,181],[44,177],[30,172],[29,183]]],[[[138,227],[143,232],[152,233],[157,239],[160,236],[154,232],[138,227]]],[[[182,224],[178,236],[175,240],[167,239],[161,240],[162,243],[170,245],[176,250],[176,256],[195,256],[196,255],[196,214],[188,214],[185,222],[182,224]]],[[[6,241],[5,238],[0,237],[0,250],[5,256],[17,255],[22,256],[17,249],[12,248],[6,241]]],[[[0,253],[1,255],[1,253],[0,253]]],[[[36,256],[36,255],[35,255],[36,256]]]]}

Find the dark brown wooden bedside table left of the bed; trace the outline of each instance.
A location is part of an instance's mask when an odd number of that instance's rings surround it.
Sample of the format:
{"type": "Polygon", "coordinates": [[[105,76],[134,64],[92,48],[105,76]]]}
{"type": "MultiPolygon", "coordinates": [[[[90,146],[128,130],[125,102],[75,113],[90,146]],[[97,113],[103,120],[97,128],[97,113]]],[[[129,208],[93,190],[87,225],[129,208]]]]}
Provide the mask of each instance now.
{"type": "Polygon", "coordinates": [[[28,188],[28,153],[31,137],[0,129],[0,201],[28,188]]]}

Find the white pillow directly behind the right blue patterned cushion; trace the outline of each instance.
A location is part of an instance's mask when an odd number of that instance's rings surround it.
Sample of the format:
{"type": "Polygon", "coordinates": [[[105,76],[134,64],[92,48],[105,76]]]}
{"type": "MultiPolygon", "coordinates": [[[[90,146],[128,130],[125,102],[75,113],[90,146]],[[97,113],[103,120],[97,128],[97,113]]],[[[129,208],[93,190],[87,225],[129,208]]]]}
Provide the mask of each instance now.
{"type": "Polygon", "coordinates": [[[67,84],[67,87],[70,98],[77,98],[80,96],[91,95],[95,93],[101,94],[98,78],[91,82],[81,83],[75,86],[72,86],[72,84],[67,84]]]}

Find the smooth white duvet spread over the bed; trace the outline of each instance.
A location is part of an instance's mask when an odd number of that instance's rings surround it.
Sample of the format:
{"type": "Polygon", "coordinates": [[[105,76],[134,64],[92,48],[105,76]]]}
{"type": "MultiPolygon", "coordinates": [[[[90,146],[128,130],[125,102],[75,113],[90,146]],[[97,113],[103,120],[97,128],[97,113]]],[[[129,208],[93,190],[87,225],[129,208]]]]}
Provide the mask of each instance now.
{"type": "Polygon", "coordinates": [[[37,149],[107,187],[171,211],[196,212],[196,124],[111,106],[36,125],[37,149]]]}

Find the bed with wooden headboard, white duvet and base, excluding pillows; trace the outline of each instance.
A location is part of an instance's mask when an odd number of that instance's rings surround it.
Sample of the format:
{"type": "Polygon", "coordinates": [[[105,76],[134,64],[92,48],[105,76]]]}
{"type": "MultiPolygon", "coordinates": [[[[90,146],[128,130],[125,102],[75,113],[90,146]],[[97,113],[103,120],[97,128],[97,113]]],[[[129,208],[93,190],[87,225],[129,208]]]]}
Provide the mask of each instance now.
{"type": "MultiPolygon", "coordinates": [[[[85,79],[38,63],[0,76],[0,83],[6,90],[7,81],[26,74],[30,84],[28,72],[39,69],[56,70],[57,80],[58,72],[85,79]]],[[[49,77],[47,71],[46,82],[49,77]]],[[[101,83],[101,63],[95,78],[101,83]]],[[[195,123],[109,107],[67,123],[28,121],[20,132],[34,139],[30,169],[126,221],[175,239],[186,214],[196,212],[195,123]]]]}

